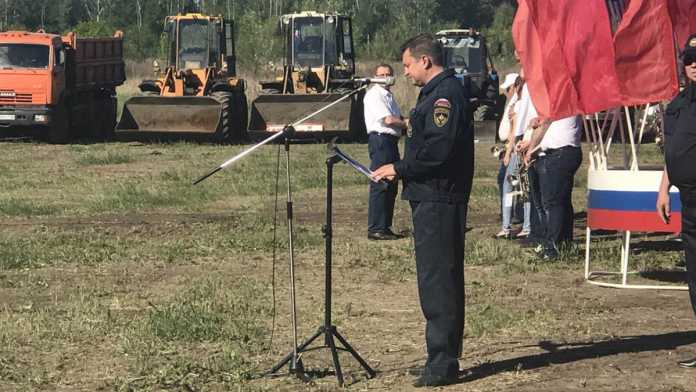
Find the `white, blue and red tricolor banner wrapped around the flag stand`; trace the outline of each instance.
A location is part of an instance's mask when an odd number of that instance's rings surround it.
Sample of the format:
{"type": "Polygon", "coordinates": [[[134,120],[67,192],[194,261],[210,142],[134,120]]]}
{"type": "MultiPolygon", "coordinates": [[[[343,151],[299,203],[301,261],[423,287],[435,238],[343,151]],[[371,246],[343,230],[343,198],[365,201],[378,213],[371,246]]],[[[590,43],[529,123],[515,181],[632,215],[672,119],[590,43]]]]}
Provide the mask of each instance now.
{"type": "Polygon", "coordinates": [[[655,210],[661,178],[661,171],[591,170],[587,226],[592,230],[680,233],[681,202],[676,188],[670,189],[668,225],[655,210]]]}

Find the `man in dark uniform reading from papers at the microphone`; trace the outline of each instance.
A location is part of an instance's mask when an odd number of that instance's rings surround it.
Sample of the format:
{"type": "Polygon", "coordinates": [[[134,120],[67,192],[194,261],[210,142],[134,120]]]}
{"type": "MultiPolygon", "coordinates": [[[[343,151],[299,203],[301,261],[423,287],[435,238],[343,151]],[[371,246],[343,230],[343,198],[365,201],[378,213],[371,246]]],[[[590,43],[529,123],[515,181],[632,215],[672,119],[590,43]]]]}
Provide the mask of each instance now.
{"type": "Polygon", "coordinates": [[[428,359],[416,387],[457,382],[464,333],[464,235],[474,174],[472,111],[442,44],[429,34],[401,48],[405,75],[421,87],[404,158],[374,172],[400,177],[411,204],[416,270],[428,359]]]}

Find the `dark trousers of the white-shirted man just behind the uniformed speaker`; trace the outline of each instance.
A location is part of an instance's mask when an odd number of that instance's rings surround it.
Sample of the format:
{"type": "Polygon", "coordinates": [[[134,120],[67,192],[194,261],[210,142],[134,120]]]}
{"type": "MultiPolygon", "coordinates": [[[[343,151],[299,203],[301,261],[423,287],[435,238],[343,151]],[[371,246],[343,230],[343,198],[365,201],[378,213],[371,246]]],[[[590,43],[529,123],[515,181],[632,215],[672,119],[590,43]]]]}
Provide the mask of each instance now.
{"type": "MultiPolygon", "coordinates": [[[[370,170],[399,161],[399,139],[396,136],[380,135],[371,132],[368,139],[370,170]]],[[[370,182],[370,199],[367,207],[367,231],[381,233],[389,229],[394,218],[394,204],[398,192],[398,182],[370,182]]]]}

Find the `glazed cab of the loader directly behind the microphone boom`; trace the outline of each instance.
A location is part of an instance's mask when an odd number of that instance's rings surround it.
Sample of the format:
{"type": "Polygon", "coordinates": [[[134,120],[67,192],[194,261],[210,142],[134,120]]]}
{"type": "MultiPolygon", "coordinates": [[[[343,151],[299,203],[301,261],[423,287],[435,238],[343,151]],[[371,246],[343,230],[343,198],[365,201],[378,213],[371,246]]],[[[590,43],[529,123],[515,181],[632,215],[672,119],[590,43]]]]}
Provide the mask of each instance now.
{"type": "Polygon", "coordinates": [[[355,73],[353,29],[347,16],[302,12],[281,17],[285,64],[294,69],[331,67],[334,78],[355,73]]]}

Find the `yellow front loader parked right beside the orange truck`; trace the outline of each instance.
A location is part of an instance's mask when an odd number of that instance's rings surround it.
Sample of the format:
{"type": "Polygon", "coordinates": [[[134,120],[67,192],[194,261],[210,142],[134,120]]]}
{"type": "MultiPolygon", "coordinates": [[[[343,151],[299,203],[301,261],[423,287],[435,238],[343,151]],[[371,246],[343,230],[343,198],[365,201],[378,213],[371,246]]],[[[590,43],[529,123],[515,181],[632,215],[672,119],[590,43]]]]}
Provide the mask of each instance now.
{"type": "Polygon", "coordinates": [[[185,13],[165,20],[168,65],[138,86],[119,130],[208,133],[220,142],[246,138],[247,98],[236,77],[234,28],[220,16],[185,13]]]}

